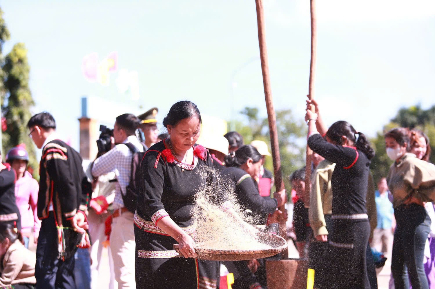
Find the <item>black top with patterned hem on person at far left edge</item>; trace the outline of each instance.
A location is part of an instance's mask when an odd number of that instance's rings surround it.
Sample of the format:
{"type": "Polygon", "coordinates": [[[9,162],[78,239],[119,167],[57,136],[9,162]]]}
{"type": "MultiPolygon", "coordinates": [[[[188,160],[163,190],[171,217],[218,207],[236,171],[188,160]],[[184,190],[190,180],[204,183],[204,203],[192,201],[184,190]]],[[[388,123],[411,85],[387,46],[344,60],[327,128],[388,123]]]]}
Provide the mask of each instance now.
{"type": "Polygon", "coordinates": [[[0,222],[15,225],[21,230],[20,210],[15,199],[15,181],[17,174],[7,163],[0,171],[0,222]]]}

